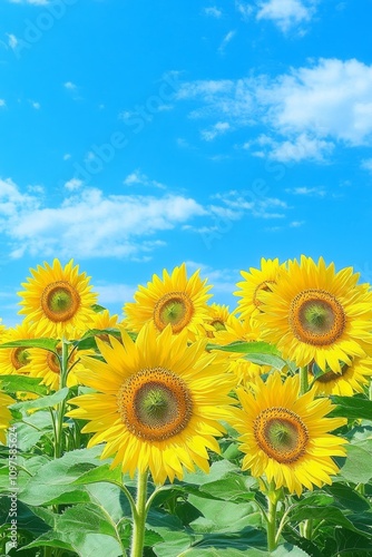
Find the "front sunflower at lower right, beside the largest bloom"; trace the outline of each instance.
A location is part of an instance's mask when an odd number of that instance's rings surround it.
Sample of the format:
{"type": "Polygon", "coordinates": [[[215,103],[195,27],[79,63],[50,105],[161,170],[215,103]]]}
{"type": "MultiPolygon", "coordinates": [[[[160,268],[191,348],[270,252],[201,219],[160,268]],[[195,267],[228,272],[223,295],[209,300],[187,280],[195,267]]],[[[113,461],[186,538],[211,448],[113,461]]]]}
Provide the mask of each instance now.
{"type": "Polygon", "coordinates": [[[233,426],[242,433],[243,469],[300,496],[303,487],[332,483],[331,475],[339,470],[332,457],[345,456],[346,441],[329,432],[346,420],[325,418],[334,407],[329,399],[314,400],[313,390],[298,393],[298,375],[284,383],[278,372],[266,383],[256,378],[249,391],[237,389],[243,408],[233,426]]]}

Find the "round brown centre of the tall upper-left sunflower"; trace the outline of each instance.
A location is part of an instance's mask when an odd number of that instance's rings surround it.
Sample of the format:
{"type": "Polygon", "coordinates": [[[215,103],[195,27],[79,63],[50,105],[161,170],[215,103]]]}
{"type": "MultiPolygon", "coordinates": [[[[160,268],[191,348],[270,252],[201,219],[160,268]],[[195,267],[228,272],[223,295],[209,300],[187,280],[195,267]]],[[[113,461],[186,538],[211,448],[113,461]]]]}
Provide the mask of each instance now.
{"type": "Polygon", "coordinates": [[[46,286],[41,294],[41,307],[50,321],[68,321],[80,307],[80,295],[68,281],[57,281],[46,286]]]}

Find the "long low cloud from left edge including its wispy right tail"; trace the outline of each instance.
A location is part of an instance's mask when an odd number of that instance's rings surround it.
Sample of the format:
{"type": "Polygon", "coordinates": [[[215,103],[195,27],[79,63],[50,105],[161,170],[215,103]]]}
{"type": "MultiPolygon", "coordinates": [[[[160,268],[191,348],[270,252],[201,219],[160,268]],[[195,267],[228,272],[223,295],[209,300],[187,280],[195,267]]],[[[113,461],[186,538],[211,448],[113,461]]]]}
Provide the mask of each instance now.
{"type": "MultiPolygon", "coordinates": [[[[141,176],[133,173],[127,182],[135,184],[141,176]]],[[[284,219],[291,208],[280,198],[249,190],[215,194],[203,205],[175,193],[108,194],[76,178],[66,182],[61,193],[60,204],[51,206],[42,187],[22,192],[11,179],[0,180],[0,234],[11,258],[51,257],[58,251],[61,257],[80,260],[147,261],[167,245],[169,231],[221,234],[222,223],[228,229],[244,217],[284,219]]]]}

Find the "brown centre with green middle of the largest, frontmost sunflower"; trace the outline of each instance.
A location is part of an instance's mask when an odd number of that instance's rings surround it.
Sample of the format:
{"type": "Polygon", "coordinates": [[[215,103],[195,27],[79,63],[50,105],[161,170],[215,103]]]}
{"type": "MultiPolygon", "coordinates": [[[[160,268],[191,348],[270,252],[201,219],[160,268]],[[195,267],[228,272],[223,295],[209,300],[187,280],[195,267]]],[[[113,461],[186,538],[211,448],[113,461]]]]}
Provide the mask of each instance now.
{"type": "Polygon", "coordinates": [[[163,441],[183,431],[193,413],[185,382],[164,368],[148,368],[131,375],[118,393],[123,422],[136,437],[163,441]]]}

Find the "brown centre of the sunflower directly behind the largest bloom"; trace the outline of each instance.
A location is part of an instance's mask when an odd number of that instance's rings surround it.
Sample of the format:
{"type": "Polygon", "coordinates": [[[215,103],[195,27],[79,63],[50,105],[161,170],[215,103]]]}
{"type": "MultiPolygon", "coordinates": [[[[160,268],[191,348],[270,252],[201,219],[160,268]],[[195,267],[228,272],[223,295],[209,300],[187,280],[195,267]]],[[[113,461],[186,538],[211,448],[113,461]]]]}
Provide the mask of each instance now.
{"type": "Polygon", "coordinates": [[[194,315],[194,304],[185,292],[169,292],[157,301],[154,309],[155,325],[163,331],[169,323],[179,333],[194,315]]]}

